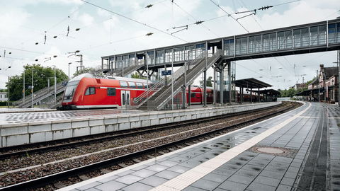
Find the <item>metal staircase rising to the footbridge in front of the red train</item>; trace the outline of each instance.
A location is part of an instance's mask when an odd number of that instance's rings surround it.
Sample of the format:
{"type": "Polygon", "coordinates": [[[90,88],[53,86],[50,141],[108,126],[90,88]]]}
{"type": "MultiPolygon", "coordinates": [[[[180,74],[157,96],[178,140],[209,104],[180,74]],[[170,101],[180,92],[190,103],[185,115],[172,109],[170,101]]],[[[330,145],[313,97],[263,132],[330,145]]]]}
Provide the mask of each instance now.
{"type": "MultiPolygon", "coordinates": [[[[215,64],[222,56],[221,51],[217,51],[212,57],[207,58],[207,69],[215,64]]],[[[186,71],[186,84],[192,83],[202,72],[205,70],[205,52],[201,54],[198,58],[194,59],[193,62],[189,63],[190,66],[188,69],[185,69],[185,66],[182,66],[178,71],[175,72],[174,76],[174,96],[181,91],[181,87],[183,87],[186,71]],[[203,55],[203,56],[202,56],[203,55]]],[[[141,95],[139,98],[142,99],[142,96],[147,97],[144,101],[142,101],[137,109],[140,110],[161,110],[166,103],[171,100],[171,81],[165,86],[165,80],[159,81],[159,84],[155,84],[157,87],[152,87],[151,91],[146,91],[145,95],[141,95]],[[161,86],[164,84],[164,86],[161,86]]],[[[138,100],[137,100],[138,103],[138,100]]]]}

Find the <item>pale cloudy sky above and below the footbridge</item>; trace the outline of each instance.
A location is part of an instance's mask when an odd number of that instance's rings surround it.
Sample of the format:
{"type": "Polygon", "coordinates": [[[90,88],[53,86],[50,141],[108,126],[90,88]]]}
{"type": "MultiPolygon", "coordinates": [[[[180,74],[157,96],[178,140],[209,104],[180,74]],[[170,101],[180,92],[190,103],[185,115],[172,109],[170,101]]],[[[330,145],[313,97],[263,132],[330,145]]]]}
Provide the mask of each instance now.
{"type": "MultiPolygon", "coordinates": [[[[25,64],[55,65],[65,74],[68,74],[70,66],[72,76],[79,66],[76,62],[79,57],[68,52],[76,50],[83,54],[85,67],[98,67],[101,66],[101,57],[107,55],[241,35],[247,33],[246,30],[252,33],[331,20],[340,16],[339,0],[86,1],[121,16],[81,0],[0,0],[0,88],[6,86],[8,76],[21,74],[25,64]],[[212,1],[228,13],[262,6],[273,8],[240,19],[239,22],[246,28],[244,30],[212,1]],[[146,8],[148,5],[152,6],[146,8]],[[188,30],[174,34],[175,37],[159,32],[173,33],[176,31],[173,27],[218,16],[225,17],[204,22],[203,25],[189,25],[188,30]],[[154,34],[147,36],[147,33],[154,34]],[[38,45],[35,45],[37,42],[38,45]],[[57,57],[53,57],[55,55],[57,57]],[[69,62],[72,64],[69,65],[69,62]]],[[[237,18],[239,15],[233,16],[237,18]]],[[[336,66],[333,62],[336,62],[334,51],[237,61],[236,79],[255,78],[272,84],[275,89],[285,89],[296,82],[302,83],[302,76],[305,81],[312,79],[319,64],[336,66]]],[[[208,76],[212,75],[210,69],[208,76]]]]}

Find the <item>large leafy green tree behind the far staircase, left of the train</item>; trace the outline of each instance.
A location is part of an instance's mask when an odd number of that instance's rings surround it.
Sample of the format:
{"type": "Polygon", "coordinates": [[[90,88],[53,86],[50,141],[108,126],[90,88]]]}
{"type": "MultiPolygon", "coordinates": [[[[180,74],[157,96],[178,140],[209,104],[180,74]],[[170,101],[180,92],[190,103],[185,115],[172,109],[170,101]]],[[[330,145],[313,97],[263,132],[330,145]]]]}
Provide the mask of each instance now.
{"type": "MultiPolygon", "coordinates": [[[[44,67],[40,64],[32,64],[23,66],[25,71],[25,95],[29,95],[30,89],[28,86],[32,86],[32,70],[33,70],[33,83],[34,91],[39,91],[42,88],[47,87],[47,79],[50,79],[50,86],[55,84],[55,76],[57,77],[57,83],[67,80],[67,75],[61,69],[55,69],[51,67],[44,67]],[[56,73],[56,75],[55,75],[56,73]]],[[[8,83],[6,83],[8,88],[8,83]]],[[[9,99],[11,101],[18,100],[23,97],[23,73],[16,76],[10,76],[9,80],[9,99]]]]}

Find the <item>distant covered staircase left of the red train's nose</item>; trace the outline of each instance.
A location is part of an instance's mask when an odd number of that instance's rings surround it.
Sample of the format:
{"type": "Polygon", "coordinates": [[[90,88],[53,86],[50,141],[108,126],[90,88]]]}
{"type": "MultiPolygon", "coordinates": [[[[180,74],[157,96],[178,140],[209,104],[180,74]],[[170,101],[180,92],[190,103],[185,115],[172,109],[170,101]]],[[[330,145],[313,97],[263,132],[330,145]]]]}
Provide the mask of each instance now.
{"type": "MultiPolygon", "coordinates": [[[[65,90],[66,86],[63,86],[62,83],[57,83],[57,94],[61,93],[65,90]]],[[[33,104],[38,103],[50,96],[54,96],[55,86],[50,86],[50,88],[42,88],[39,91],[34,92],[33,104]]],[[[17,100],[13,103],[13,105],[17,105],[17,108],[30,108],[32,105],[32,94],[25,97],[25,103],[23,103],[23,98],[17,100]]]]}

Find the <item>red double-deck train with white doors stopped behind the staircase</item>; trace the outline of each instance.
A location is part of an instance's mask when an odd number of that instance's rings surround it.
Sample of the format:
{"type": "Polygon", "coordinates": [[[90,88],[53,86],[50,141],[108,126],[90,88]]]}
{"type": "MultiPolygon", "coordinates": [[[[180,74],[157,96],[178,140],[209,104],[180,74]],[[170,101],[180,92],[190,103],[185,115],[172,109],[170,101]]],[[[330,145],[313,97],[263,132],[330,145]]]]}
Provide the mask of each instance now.
{"type": "MultiPolygon", "coordinates": [[[[148,81],[152,86],[152,81],[148,81]]],[[[81,74],[67,83],[62,99],[62,110],[90,108],[124,108],[133,98],[147,89],[147,81],[123,77],[102,78],[81,74]]],[[[212,88],[207,88],[207,103],[212,103],[212,88]]],[[[188,100],[188,88],[186,98],[188,100]]],[[[191,87],[191,103],[200,104],[203,88],[191,87]]]]}

